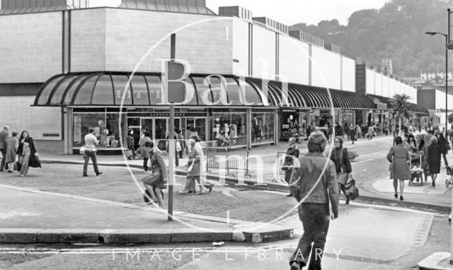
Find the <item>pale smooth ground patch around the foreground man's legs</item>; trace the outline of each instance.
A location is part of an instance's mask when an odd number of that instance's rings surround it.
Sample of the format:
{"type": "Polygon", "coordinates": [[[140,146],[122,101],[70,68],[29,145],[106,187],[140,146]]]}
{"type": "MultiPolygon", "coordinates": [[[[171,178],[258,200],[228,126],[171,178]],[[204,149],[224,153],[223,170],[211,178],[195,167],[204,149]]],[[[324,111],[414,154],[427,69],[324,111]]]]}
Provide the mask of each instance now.
{"type": "MultiPolygon", "coordinates": [[[[432,225],[432,215],[340,207],[339,218],[331,221],[326,252],[343,256],[390,261],[423,245],[432,225]]],[[[303,233],[299,216],[277,224],[294,228],[294,237],[303,233]]]]}

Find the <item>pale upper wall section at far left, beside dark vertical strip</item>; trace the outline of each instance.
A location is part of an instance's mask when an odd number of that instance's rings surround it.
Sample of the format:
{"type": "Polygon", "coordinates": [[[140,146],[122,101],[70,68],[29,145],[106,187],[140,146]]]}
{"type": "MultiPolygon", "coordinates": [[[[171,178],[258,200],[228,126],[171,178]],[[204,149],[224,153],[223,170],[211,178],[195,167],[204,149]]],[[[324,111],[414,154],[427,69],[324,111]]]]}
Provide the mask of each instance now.
{"type": "Polygon", "coordinates": [[[0,83],[42,83],[62,71],[62,13],[0,16],[0,83]]]}

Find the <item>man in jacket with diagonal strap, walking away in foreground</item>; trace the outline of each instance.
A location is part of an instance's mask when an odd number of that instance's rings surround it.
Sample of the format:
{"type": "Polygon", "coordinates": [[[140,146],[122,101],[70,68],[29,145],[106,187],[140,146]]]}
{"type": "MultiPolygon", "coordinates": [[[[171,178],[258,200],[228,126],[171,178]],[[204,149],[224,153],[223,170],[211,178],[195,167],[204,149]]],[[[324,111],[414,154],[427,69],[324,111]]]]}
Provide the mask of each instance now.
{"type": "Polygon", "coordinates": [[[314,132],[309,136],[307,147],[309,153],[299,158],[300,167],[295,175],[297,180],[291,186],[291,192],[299,202],[299,219],[304,228],[297,250],[289,259],[292,270],[302,269],[309,258],[309,269],[321,269],[329,216],[332,220],[338,218],[336,168],[333,161],[323,155],[326,137],[321,132],[314,132]]]}

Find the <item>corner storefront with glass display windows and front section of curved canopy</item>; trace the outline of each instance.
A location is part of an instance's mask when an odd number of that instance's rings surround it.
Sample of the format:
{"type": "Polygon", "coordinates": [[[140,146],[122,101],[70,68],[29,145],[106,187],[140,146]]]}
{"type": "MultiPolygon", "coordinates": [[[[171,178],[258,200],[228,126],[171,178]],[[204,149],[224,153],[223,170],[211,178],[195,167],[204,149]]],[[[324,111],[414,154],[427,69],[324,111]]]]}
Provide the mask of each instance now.
{"type": "Polygon", "coordinates": [[[136,147],[147,131],[166,150],[173,127],[185,139],[197,134],[214,146],[277,143],[275,100],[263,102],[260,88],[234,76],[222,76],[222,81],[212,77],[207,84],[204,77],[185,80],[193,95],[186,93],[184,104],[176,106],[174,123],[168,122],[168,106],[161,101],[160,74],[135,74],[129,85],[129,74],[117,72],[54,76],[41,87],[34,106],[62,107],[66,153],[78,153],[89,129],[96,131],[98,150],[106,154],[120,153],[130,130],[136,147]]]}

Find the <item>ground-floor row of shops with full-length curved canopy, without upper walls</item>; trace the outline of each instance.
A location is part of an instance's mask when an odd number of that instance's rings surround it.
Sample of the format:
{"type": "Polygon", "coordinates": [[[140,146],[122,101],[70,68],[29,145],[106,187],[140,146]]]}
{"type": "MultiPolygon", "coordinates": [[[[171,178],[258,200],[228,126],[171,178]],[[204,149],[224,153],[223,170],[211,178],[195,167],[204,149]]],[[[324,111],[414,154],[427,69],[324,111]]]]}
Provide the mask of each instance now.
{"type": "MultiPolygon", "coordinates": [[[[84,145],[88,129],[99,136],[100,150],[120,152],[132,130],[136,146],[148,131],[159,148],[166,148],[168,131],[197,134],[217,146],[246,147],[276,144],[307,129],[329,124],[383,123],[388,110],[377,110],[372,98],[277,81],[236,76],[191,75],[185,79],[185,101],[176,106],[169,123],[161,74],[94,72],[62,74],[42,85],[33,106],[62,107],[65,152],[84,145]],[[329,98],[330,97],[330,98],[329,98]]],[[[417,108],[422,116],[423,108],[417,108]]]]}

